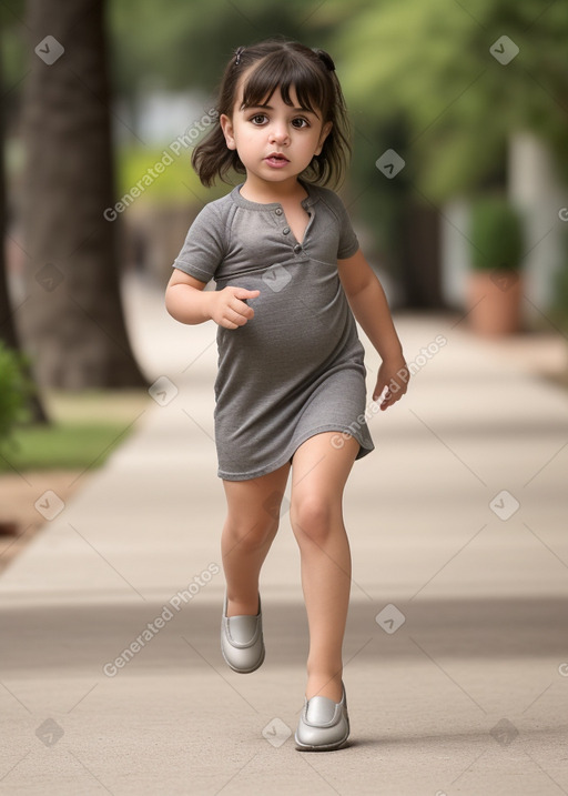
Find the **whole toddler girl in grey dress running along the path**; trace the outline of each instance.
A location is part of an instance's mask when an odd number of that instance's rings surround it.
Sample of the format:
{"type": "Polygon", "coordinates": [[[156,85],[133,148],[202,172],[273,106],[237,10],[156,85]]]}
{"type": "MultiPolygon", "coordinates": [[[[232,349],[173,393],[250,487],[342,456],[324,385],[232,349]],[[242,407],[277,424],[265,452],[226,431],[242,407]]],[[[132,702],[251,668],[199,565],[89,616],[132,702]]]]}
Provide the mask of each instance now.
{"type": "Polygon", "coordinates": [[[349,734],[342,645],[351,555],[342,496],[373,450],[355,319],[382,359],[373,400],[385,410],[408,371],[385,294],[337,184],[349,154],[331,57],[290,41],[239,48],[219,97],[219,125],[196,147],[205,185],[245,175],[207,204],[175,260],[166,306],[182,323],[217,325],[215,442],[227,516],[221,646],[235,672],[264,661],[258,576],[292,471],[310,653],[300,749],[349,734]],[[214,291],[203,289],[215,281],[214,291]]]}

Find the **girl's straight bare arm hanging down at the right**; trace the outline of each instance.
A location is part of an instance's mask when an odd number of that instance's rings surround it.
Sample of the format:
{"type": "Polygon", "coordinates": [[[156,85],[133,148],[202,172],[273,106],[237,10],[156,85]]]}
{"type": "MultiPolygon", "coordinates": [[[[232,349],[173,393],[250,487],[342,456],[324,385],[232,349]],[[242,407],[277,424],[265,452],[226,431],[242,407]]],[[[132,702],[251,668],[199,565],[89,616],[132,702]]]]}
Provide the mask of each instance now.
{"type": "Polygon", "coordinates": [[[383,360],[373,400],[379,397],[385,386],[389,387],[381,403],[382,410],[388,409],[405,394],[410,374],[383,285],[361,249],[347,260],[339,260],[337,268],[353,314],[383,360]]]}

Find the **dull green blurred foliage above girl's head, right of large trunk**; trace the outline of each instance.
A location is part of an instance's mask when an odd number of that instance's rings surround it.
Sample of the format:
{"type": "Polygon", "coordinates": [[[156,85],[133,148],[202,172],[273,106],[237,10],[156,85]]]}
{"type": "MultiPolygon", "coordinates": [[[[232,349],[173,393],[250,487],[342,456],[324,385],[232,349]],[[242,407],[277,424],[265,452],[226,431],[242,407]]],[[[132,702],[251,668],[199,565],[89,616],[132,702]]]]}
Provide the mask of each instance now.
{"type": "Polygon", "coordinates": [[[121,94],[152,82],[211,91],[241,44],[284,36],[322,47],[334,21],[345,16],[331,16],[322,0],[113,0],[109,11],[121,94]]]}

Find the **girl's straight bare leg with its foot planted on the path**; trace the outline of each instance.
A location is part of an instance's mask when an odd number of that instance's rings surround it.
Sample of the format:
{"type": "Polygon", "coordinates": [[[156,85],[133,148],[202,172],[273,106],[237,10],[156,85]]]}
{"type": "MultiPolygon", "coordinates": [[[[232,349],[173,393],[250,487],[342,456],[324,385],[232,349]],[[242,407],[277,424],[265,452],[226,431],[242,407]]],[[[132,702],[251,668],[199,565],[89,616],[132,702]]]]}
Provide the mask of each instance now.
{"type": "Polygon", "coordinates": [[[339,702],[351,587],[342,501],[359,444],[349,436],[337,449],[332,445],[334,436],[335,432],[312,436],[294,454],[291,521],[300,545],[310,626],[306,697],[339,702]]]}

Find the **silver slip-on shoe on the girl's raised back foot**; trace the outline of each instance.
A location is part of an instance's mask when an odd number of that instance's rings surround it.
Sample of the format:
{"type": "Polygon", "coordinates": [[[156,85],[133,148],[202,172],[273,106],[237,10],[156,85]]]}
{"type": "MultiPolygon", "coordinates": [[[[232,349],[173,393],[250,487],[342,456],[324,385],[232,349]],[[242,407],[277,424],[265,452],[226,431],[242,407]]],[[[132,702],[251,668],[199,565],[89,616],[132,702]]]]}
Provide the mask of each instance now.
{"type": "Polygon", "coordinates": [[[227,666],[240,674],[255,672],[264,662],[261,595],[256,616],[227,616],[226,592],[221,619],[221,652],[227,666]]]}

